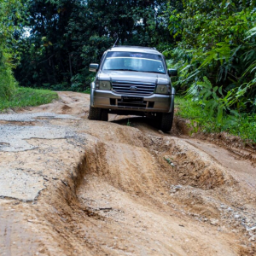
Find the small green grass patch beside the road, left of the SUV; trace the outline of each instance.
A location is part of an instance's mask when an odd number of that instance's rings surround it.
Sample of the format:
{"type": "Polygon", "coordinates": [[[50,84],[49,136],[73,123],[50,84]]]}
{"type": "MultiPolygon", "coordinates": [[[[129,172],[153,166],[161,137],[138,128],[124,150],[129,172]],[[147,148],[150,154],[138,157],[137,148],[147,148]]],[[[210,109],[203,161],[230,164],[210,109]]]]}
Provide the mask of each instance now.
{"type": "Polygon", "coordinates": [[[6,108],[23,108],[47,104],[57,99],[58,95],[51,90],[35,90],[18,87],[9,100],[0,98],[0,112],[6,108]]]}

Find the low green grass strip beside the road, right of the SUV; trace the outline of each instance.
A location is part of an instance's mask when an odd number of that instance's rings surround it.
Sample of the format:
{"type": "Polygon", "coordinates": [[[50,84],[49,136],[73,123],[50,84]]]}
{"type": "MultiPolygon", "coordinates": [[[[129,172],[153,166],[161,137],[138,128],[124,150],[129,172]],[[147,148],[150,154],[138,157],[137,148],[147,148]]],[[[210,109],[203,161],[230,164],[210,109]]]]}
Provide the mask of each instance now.
{"type": "Polygon", "coordinates": [[[226,131],[244,140],[256,143],[256,114],[241,113],[239,116],[224,114],[221,122],[211,116],[201,105],[192,100],[176,97],[177,116],[190,120],[193,132],[226,131]]]}

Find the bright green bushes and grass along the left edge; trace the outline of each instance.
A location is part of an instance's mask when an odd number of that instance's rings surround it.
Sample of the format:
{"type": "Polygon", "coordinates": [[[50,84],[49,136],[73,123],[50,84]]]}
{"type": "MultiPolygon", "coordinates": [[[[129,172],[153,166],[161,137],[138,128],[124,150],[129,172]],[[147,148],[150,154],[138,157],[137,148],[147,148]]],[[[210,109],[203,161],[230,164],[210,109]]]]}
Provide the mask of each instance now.
{"type": "Polygon", "coordinates": [[[46,104],[58,97],[53,91],[19,87],[14,77],[13,70],[20,60],[17,21],[22,20],[22,10],[20,1],[0,0],[0,112],[46,104]]]}

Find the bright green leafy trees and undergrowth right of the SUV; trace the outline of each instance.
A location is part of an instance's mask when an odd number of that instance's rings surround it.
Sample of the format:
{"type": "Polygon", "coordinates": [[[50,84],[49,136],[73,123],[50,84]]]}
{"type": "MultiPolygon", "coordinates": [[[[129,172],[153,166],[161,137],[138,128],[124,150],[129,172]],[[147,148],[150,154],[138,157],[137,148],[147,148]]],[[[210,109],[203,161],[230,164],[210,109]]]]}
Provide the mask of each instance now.
{"type": "Polygon", "coordinates": [[[254,6],[255,1],[188,0],[183,1],[183,9],[179,11],[170,7],[169,29],[177,44],[164,54],[169,59],[168,66],[179,70],[179,77],[174,81],[176,89],[198,110],[194,109],[195,114],[186,105],[183,107],[188,112],[181,110],[183,116],[195,117],[191,122],[195,129],[200,125],[205,131],[230,131],[253,139],[254,6]]]}

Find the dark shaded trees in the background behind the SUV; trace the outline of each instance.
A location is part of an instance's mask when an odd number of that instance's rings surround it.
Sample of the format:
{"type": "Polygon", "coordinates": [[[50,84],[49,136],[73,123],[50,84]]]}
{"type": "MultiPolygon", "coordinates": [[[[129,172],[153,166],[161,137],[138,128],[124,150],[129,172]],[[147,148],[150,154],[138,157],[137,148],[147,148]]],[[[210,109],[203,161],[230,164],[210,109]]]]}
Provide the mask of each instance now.
{"type": "Polygon", "coordinates": [[[116,38],[118,44],[160,45],[160,49],[172,42],[167,0],[24,2],[23,28],[30,34],[20,36],[21,60],[15,70],[22,86],[49,84],[48,88],[83,91],[93,78],[90,62],[100,62],[116,38]]]}

